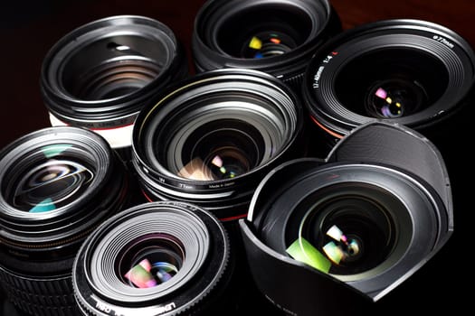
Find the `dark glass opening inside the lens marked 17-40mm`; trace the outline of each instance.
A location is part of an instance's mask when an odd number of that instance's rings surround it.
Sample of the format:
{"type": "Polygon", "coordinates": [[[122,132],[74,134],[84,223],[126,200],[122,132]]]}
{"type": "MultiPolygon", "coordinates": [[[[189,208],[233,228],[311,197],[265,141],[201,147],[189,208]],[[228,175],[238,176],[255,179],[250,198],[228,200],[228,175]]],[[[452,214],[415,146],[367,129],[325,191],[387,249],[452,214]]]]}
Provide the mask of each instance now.
{"type": "Polygon", "coordinates": [[[334,87],[337,99],[356,114],[395,118],[430,107],[448,82],[446,67],[431,54],[386,48],[349,60],[334,87]]]}

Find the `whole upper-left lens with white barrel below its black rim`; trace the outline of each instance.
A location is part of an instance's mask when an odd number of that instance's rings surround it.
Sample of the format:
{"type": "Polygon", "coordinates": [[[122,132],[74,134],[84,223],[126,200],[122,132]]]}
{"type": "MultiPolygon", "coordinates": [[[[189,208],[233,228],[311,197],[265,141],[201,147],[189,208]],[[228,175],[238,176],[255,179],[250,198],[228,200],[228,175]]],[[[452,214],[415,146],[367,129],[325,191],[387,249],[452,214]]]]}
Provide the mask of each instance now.
{"type": "Polygon", "coordinates": [[[55,125],[104,136],[129,159],[133,123],[157,90],[188,76],[185,50],[164,23],[102,18],[66,34],[43,59],[41,91],[55,125]]]}

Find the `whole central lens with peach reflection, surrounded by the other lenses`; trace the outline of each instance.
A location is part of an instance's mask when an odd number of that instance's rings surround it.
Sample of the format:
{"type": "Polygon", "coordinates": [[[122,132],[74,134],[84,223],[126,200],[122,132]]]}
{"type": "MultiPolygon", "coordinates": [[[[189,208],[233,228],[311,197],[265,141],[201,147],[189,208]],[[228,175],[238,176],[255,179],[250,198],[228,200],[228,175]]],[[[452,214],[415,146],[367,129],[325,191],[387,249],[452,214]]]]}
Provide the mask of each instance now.
{"type": "Polygon", "coordinates": [[[138,115],[132,163],[148,200],[183,200],[242,217],[258,181],[303,154],[303,114],[279,79],[210,70],[169,88],[138,115]]]}

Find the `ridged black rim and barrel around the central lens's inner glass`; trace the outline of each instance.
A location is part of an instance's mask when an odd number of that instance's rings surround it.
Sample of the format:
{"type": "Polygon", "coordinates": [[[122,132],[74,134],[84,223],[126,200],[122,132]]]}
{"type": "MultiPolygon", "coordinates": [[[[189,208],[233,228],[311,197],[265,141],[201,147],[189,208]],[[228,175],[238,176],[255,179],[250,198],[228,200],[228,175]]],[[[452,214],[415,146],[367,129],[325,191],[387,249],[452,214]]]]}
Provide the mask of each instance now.
{"type": "MultiPolygon", "coordinates": [[[[242,117],[240,119],[244,120],[242,117]]],[[[182,127],[188,126],[187,123],[180,124],[182,127]]],[[[275,129],[275,126],[272,129],[275,129]]],[[[303,146],[299,145],[301,133],[303,133],[303,108],[295,94],[279,79],[258,70],[211,70],[170,86],[144,108],[134,125],[132,163],[151,199],[155,196],[162,200],[163,194],[168,196],[165,200],[187,200],[220,212],[235,207],[240,209],[240,214],[236,215],[234,209],[231,211],[233,213],[231,217],[242,216],[247,210],[245,205],[249,202],[247,198],[251,197],[252,188],[271,166],[303,151],[303,146]],[[247,100],[248,104],[244,101],[242,101],[244,105],[237,102],[223,102],[226,98],[231,101],[236,98],[247,100]],[[217,101],[213,103],[214,100],[217,101]],[[195,115],[190,109],[201,111],[201,114],[195,115]],[[262,157],[267,161],[260,162],[249,172],[228,179],[207,181],[185,179],[168,171],[156,153],[150,152],[166,151],[163,146],[153,143],[160,130],[174,131],[167,132],[172,133],[171,138],[178,135],[186,139],[188,132],[184,128],[176,131],[173,127],[174,120],[179,122],[182,116],[190,116],[195,125],[203,125],[206,120],[212,122],[234,118],[229,113],[233,116],[241,113],[242,117],[246,116],[248,123],[256,122],[255,125],[261,128],[259,130],[261,135],[266,139],[269,138],[267,146],[274,136],[268,135],[270,132],[262,130],[264,128],[262,126],[275,124],[282,128],[279,130],[280,147],[272,149],[274,153],[269,152],[271,148],[266,147],[262,157]]],[[[177,144],[179,143],[174,144],[174,148],[180,148],[177,144]]],[[[227,218],[222,214],[218,217],[227,218]]]]}

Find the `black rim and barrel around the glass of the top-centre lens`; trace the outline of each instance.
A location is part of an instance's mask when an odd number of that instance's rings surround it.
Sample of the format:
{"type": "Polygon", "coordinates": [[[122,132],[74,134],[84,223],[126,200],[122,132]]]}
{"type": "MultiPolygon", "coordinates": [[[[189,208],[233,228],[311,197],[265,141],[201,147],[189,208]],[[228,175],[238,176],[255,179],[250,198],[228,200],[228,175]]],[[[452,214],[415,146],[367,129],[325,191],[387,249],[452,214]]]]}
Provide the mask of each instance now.
{"type": "MultiPolygon", "coordinates": [[[[245,15],[245,14],[244,14],[245,15]]],[[[254,22],[253,21],[253,22],[254,22]]],[[[242,28],[242,25],[233,25],[242,28]]],[[[246,27],[249,25],[246,25],[246,27]]],[[[341,32],[339,17],[328,1],[207,1],[195,17],[192,37],[192,51],[197,71],[220,68],[245,68],[269,72],[275,77],[299,85],[309,58],[323,42],[341,32]],[[223,32],[223,24],[233,16],[255,10],[261,12],[255,23],[271,19],[270,10],[281,10],[287,14],[300,14],[299,20],[309,20],[308,38],[295,49],[280,56],[263,59],[243,59],[232,56],[218,41],[218,33],[223,32]]],[[[233,41],[233,38],[229,38],[233,41]]]]}

